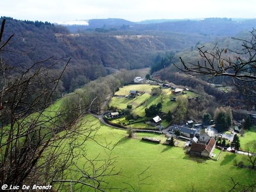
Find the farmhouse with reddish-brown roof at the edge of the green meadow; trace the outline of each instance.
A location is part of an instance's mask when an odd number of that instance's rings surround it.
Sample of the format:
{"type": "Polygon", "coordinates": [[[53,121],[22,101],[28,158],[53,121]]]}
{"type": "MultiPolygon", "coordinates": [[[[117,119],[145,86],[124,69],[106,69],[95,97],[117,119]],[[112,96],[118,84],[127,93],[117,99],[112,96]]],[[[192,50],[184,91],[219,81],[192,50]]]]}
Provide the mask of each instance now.
{"type": "Polygon", "coordinates": [[[192,155],[211,157],[216,145],[215,139],[211,138],[205,144],[192,143],[189,153],[192,155]]]}

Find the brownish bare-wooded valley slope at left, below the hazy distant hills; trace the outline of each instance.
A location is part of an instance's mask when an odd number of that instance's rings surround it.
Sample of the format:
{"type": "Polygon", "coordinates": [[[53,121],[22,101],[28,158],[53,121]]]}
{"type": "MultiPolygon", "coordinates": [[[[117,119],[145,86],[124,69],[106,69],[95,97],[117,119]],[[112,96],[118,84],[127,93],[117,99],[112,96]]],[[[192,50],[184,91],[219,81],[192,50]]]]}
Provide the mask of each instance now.
{"type": "MultiPolygon", "coordinates": [[[[0,22],[2,22],[1,17],[0,22]]],[[[12,66],[29,66],[46,58],[71,58],[64,73],[67,91],[105,76],[105,67],[136,69],[151,66],[156,55],[182,50],[204,41],[202,35],[126,35],[87,32],[71,34],[64,26],[6,18],[3,41],[15,34],[5,51],[4,61],[12,66]]],[[[66,59],[67,61],[67,59],[66,59]]],[[[47,63],[46,63],[47,64],[47,63]]]]}

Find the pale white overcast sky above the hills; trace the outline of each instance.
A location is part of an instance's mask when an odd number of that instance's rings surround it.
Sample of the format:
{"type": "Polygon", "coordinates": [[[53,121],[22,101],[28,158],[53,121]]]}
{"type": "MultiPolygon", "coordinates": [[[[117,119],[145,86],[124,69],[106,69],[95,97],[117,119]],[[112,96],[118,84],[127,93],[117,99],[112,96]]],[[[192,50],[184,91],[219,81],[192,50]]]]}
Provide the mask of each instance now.
{"type": "Polygon", "coordinates": [[[0,15],[51,23],[106,18],[256,18],[255,8],[256,0],[4,0],[0,15]]]}

